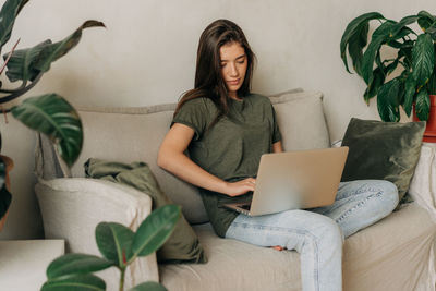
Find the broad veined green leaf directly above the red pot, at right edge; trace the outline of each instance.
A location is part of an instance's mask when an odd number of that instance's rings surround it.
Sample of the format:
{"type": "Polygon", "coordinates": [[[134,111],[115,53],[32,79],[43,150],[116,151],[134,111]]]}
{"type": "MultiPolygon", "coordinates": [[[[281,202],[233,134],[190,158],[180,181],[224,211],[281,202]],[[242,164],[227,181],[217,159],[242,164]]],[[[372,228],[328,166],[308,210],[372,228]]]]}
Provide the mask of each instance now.
{"type": "Polygon", "coordinates": [[[417,36],[412,49],[412,60],[413,78],[417,86],[422,86],[428,81],[435,66],[435,48],[428,34],[417,36]]]}

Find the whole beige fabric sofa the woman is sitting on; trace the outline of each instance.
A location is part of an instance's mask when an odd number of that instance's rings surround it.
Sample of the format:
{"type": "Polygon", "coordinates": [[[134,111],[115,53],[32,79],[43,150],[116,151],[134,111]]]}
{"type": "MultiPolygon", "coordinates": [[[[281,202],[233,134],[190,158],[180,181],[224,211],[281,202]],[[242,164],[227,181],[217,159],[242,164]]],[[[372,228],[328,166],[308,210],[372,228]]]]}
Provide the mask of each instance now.
{"type": "MultiPolygon", "coordinates": [[[[286,150],[329,147],[323,95],[300,89],[270,97],[286,150]]],[[[168,290],[301,290],[296,252],[278,252],[218,238],[197,191],[156,166],[158,146],[169,129],[174,105],[146,108],[82,108],[84,148],[71,169],[58,163],[38,140],[36,193],[48,239],[65,239],[70,252],[98,254],[94,230],[100,221],[132,229],[150,213],[147,195],[107,181],[85,179],[89,157],[124,162],[146,161],[164,191],[183,206],[208,257],[207,264],[158,265],[155,255],[136,260],[126,286],[159,280],[168,290]]],[[[435,290],[436,225],[416,204],[404,206],[346,240],[343,286],[348,291],[435,290]]],[[[100,274],[116,290],[119,274],[100,274]]]]}

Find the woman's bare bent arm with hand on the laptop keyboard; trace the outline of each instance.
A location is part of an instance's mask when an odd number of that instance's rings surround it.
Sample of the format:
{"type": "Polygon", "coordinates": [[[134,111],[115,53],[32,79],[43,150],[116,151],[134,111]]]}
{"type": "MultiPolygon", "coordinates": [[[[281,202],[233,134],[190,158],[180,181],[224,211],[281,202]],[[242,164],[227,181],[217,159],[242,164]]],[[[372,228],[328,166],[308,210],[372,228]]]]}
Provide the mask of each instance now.
{"type": "Polygon", "coordinates": [[[255,179],[249,178],[228,183],[208,173],[186,157],[183,153],[193,136],[193,129],[181,123],[174,123],[160,145],[157,165],[193,185],[229,196],[238,196],[254,191],[255,179]]]}

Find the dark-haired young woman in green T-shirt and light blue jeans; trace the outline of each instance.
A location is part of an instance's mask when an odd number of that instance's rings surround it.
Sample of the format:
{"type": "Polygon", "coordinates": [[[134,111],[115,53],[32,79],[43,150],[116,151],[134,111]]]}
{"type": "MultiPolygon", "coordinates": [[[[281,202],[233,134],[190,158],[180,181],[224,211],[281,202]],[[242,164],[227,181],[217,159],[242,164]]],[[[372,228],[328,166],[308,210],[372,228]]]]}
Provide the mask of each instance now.
{"type": "Polygon", "coordinates": [[[269,99],[250,92],[253,65],[254,53],[237,24],[218,20],[206,27],[195,87],[179,102],[158,165],[199,187],[218,235],[296,250],[303,290],[341,290],[343,238],[390,214],[397,187],[387,181],[344,182],[331,206],[257,217],[225,208],[252,195],[263,154],[283,150],[269,99]]]}

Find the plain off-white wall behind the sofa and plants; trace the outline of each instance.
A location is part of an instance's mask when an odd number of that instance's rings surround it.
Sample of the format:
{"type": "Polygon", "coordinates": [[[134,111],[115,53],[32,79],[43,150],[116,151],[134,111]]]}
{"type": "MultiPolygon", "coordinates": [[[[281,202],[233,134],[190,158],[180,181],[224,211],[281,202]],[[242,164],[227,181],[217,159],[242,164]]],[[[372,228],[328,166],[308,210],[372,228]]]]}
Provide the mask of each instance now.
{"type": "MultiPolygon", "coordinates": [[[[420,10],[436,13],[424,0],[39,0],[20,15],[11,43],[33,46],[59,40],[85,20],[107,29],[86,29],[82,43],[56,62],[29,95],[56,92],[74,105],[146,106],[174,102],[193,86],[201,32],[226,17],[245,32],[257,54],[254,92],[293,87],[325,93],[332,140],[351,117],[378,119],[376,106],[362,98],[364,83],[346,72],[339,41],[355,16],[378,11],[399,20],[420,10]]],[[[7,50],[3,50],[3,52],[7,50]]],[[[10,119],[12,119],[10,117],[10,119]]],[[[2,153],[15,160],[13,205],[2,239],[38,238],[40,216],[33,189],[33,134],[15,122],[4,126],[2,153]]]]}

